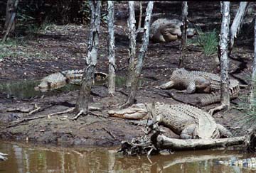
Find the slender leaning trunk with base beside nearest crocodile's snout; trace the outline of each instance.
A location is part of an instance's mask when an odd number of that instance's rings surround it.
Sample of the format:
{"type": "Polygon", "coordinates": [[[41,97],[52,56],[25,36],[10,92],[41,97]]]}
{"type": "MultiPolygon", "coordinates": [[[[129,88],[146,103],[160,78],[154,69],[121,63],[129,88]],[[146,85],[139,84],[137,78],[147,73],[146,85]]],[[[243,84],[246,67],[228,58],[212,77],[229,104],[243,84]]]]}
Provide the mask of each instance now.
{"type": "Polygon", "coordinates": [[[138,62],[136,65],[135,73],[132,77],[132,86],[131,86],[131,91],[129,93],[129,97],[127,99],[127,102],[122,105],[122,108],[126,106],[130,106],[134,104],[135,102],[135,96],[136,96],[136,91],[138,87],[138,82],[139,82],[139,76],[142,72],[142,65],[143,65],[143,59],[146,54],[148,45],[149,45],[149,28],[150,28],[150,21],[151,21],[151,13],[152,9],[154,6],[153,1],[149,1],[147,7],[146,7],[146,18],[144,22],[144,35],[142,39],[142,48],[139,50],[139,57],[138,57],[138,62]]]}

